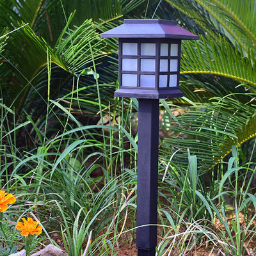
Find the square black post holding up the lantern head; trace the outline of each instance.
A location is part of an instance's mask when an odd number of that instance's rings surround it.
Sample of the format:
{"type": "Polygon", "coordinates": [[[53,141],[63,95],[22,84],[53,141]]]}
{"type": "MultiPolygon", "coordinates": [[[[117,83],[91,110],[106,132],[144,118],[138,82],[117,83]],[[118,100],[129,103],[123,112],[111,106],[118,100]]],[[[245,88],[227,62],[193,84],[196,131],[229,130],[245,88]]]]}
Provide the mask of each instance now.
{"type": "Polygon", "coordinates": [[[157,177],[159,100],[139,99],[137,248],[138,256],[155,256],[157,246],[157,177]],[[147,225],[146,227],[140,227],[147,225]]]}

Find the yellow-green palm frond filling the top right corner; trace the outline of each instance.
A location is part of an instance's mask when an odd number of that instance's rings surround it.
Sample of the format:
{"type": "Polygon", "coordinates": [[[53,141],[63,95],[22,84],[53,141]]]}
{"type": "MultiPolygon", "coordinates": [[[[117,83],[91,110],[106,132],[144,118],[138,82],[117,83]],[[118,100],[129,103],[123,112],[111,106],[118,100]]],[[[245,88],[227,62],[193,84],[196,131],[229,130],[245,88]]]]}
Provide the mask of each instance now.
{"type": "Polygon", "coordinates": [[[255,1],[232,0],[165,0],[184,13],[212,38],[220,33],[243,48],[255,50],[255,1]]]}

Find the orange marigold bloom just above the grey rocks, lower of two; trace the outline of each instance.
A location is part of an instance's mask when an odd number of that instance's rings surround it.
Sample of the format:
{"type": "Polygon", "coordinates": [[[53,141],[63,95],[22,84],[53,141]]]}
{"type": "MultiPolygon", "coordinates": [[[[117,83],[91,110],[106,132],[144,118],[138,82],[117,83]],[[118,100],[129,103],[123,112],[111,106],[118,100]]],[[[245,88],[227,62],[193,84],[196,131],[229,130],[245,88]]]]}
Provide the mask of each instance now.
{"type": "Polygon", "coordinates": [[[31,218],[28,218],[28,220],[22,218],[22,220],[24,224],[22,222],[18,222],[16,225],[16,229],[22,231],[20,235],[40,235],[42,233],[42,226],[39,225],[38,222],[33,221],[31,218]]]}

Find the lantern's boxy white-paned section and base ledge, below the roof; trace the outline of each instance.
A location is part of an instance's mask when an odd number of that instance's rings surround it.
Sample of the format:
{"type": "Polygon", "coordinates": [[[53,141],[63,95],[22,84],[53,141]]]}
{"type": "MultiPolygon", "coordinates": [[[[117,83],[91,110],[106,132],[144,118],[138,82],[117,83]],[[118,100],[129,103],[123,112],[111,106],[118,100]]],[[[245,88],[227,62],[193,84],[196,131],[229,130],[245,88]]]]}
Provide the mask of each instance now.
{"type": "Polygon", "coordinates": [[[181,97],[180,46],[177,39],[119,38],[119,90],[115,96],[181,97]]]}

